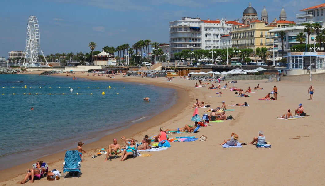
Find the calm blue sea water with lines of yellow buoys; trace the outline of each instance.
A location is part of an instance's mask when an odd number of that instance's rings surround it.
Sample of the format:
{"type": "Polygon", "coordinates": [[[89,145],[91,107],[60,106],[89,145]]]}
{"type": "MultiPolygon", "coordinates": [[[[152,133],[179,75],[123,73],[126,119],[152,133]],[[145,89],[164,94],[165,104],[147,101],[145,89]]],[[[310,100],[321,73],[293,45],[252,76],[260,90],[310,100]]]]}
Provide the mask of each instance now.
{"type": "Polygon", "coordinates": [[[148,84],[0,74],[0,170],[96,141],[175,99],[174,89],[148,84]]]}

